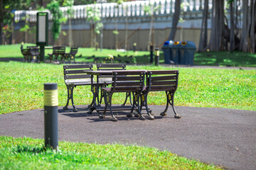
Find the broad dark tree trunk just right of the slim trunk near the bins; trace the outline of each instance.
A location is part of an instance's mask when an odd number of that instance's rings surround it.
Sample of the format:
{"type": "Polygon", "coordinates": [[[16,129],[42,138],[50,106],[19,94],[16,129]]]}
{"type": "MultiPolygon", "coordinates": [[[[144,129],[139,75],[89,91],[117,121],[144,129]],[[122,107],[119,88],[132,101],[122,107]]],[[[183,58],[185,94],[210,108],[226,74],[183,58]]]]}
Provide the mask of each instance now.
{"type": "Polygon", "coordinates": [[[224,38],[224,1],[213,0],[212,29],[210,33],[209,48],[211,51],[220,51],[224,38]]]}

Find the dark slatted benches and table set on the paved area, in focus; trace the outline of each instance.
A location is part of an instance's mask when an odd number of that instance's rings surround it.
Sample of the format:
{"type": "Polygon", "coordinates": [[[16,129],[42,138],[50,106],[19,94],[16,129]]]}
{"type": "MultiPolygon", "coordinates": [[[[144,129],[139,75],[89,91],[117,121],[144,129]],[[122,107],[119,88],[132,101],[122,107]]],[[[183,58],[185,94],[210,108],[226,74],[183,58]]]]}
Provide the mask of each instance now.
{"type": "Polygon", "coordinates": [[[77,112],[73,100],[73,91],[76,86],[91,86],[93,94],[89,113],[97,111],[99,118],[105,118],[110,111],[112,121],[117,121],[113,111],[130,111],[127,117],[138,117],[145,120],[142,110],[145,110],[149,120],[154,120],[153,113],[147,104],[148,94],[151,91],[165,91],[166,108],[160,115],[165,116],[169,105],[174,111],[174,118],[181,118],[174,109],[174,94],[178,87],[178,70],[127,70],[126,64],[97,64],[93,70],[92,64],[64,65],[64,80],[68,90],[68,100],[63,108],[68,109],[71,100],[73,111],[77,112]],[[112,106],[114,93],[126,93],[124,103],[112,106]],[[130,104],[126,105],[129,98],[130,104]],[[105,106],[102,106],[102,99],[105,106]],[[136,111],[137,113],[134,113],[136,111]]]}

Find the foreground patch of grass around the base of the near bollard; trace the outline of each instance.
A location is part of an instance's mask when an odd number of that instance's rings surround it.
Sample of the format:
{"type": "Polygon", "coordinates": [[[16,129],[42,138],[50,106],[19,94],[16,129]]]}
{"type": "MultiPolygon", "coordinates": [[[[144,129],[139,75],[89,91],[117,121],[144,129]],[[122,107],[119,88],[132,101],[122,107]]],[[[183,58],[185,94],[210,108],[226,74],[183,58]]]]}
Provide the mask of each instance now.
{"type": "Polygon", "coordinates": [[[59,142],[59,151],[43,140],[0,137],[0,169],[220,169],[168,151],[135,145],[59,142]]]}

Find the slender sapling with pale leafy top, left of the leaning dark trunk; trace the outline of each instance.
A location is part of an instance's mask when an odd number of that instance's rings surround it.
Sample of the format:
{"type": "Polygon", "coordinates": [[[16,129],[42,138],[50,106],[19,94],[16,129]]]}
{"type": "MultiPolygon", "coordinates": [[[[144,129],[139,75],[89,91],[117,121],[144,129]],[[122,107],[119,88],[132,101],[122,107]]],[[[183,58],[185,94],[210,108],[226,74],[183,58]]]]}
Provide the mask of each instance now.
{"type": "Polygon", "coordinates": [[[161,8],[161,6],[154,6],[154,4],[150,4],[150,3],[148,6],[144,6],[144,12],[148,13],[150,16],[148,50],[149,50],[150,45],[154,45],[154,39],[152,38],[152,30],[154,28],[154,13],[156,11],[159,11],[160,8],[161,8]]]}

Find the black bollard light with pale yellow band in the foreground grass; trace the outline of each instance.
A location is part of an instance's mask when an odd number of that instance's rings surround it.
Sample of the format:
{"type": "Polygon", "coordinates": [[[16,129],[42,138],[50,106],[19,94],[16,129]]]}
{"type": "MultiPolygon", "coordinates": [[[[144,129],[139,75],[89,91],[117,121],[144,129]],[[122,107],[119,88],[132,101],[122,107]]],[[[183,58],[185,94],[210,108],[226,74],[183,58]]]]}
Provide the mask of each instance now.
{"type": "Polygon", "coordinates": [[[44,84],[45,147],[58,149],[58,85],[44,84]]]}

